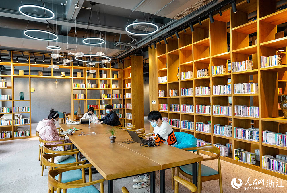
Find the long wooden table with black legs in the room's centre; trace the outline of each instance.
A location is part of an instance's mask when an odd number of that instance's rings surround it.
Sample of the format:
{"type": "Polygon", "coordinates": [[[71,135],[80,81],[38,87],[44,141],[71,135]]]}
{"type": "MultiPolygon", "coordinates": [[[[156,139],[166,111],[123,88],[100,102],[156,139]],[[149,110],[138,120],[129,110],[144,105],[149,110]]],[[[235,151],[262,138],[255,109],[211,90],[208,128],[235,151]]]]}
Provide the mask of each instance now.
{"type": "Polygon", "coordinates": [[[197,162],[203,161],[201,155],[190,153],[176,147],[161,144],[158,147],[140,147],[139,143],[122,143],[131,137],[127,131],[95,123],[81,125],[60,124],[66,131],[75,131],[69,138],[98,172],[108,180],[109,193],[113,193],[113,180],[150,173],[150,190],[155,193],[155,171],[160,170],[160,192],[165,193],[165,170],[177,166],[193,164],[193,183],[197,185],[197,162]],[[117,130],[115,143],[110,143],[106,134],[108,129],[117,130]],[[82,135],[81,132],[95,132],[96,135],[82,135]]]}

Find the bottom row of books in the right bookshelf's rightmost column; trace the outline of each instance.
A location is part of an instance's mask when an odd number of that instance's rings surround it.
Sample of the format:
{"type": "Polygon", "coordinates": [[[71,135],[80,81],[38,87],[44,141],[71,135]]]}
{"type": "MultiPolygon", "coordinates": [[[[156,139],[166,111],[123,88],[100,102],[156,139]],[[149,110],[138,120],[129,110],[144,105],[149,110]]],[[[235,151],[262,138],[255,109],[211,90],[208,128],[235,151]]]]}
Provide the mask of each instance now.
{"type": "Polygon", "coordinates": [[[272,155],[264,155],[262,156],[262,168],[286,175],[287,156],[278,154],[275,158],[272,155]]]}

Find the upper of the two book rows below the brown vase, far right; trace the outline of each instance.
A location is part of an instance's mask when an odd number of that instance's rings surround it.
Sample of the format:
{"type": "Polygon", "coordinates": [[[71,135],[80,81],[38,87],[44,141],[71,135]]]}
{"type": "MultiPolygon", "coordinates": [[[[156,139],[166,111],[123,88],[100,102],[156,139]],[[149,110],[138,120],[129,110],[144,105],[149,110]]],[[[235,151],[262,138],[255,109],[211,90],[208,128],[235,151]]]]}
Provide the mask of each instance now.
{"type": "Polygon", "coordinates": [[[276,133],[272,131],[262,131],[262,143],[277,145],[281,147],[287,147],[287,132],[276,133]]]}

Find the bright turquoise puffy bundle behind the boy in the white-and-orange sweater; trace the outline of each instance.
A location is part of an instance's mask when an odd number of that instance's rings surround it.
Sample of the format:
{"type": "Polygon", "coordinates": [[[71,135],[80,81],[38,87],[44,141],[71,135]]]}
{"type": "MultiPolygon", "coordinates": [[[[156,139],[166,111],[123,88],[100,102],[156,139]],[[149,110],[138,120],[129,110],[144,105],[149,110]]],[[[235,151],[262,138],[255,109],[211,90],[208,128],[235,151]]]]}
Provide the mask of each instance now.
{"type": "Polygon", "coordinates": [[[174,135],[177,139],[177,145],[175,145],[174,147],[177,147],[179,149],[196,147],[197,139],[193,135],[185,132],[175,132],[174,135]]]}

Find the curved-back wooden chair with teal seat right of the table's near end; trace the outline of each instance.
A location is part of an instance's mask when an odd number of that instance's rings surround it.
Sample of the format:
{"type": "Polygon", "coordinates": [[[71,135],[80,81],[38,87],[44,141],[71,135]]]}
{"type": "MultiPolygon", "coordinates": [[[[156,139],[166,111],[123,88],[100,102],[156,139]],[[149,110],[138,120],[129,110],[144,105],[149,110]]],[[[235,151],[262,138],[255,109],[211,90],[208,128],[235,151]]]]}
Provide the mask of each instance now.
{"type": "MultiPolygon", "coordinates": [[[[216,154],[215,157],[210,158],[204,158],[203,161],[208,160],[218,160],[218,171],[202,165],[201,162],[198,162],[198,193],[200,193],[202,189],[202,182],[210,181],[210,180],[219,180],[219,190],[220,193],[222,193],[222,177],[221,177],[221,165],[220,165],[220,149],[214,145],[205,145],[201,147],[191,147],[191,148],[185,148],[183,150],[191,151],[191,150],[197,150],[197,154],[199,155],[199,150],[203,151],[209,151],[212,152],[212,154],[216,154]]],[[[179,173],[181,173],[183,176],[188,178],[190,181],[192,181],[192,164],[188,164],[185,166],[177,167],[177,175],[179,176],[179,173]]],[[[173,174],[172,174],[173,175],[173,174]]],[[[174,176],[172,176],[174,179],[174,176]]]]}

